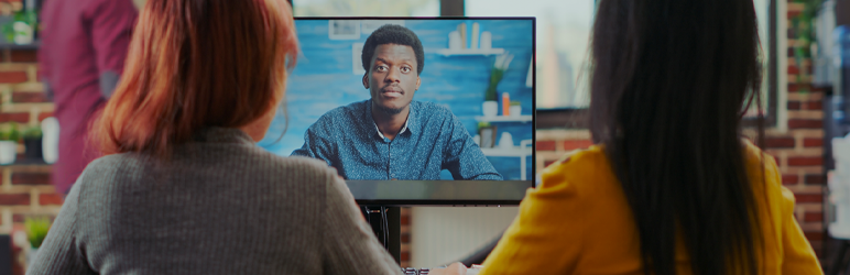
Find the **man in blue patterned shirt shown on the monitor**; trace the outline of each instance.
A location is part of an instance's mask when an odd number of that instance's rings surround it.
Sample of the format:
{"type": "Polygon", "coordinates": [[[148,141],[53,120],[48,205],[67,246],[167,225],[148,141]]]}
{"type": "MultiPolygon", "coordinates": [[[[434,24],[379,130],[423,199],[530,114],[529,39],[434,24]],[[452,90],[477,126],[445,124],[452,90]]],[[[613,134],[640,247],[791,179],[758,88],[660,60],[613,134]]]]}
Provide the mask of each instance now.
{"type": "Polygon", "coordinates": [[[371,99],[328,111],[292,155],[324,160],[346,179],[502,179],[446,107],[413,100],[425,54],[411,30],[383,25],[366,40],[371,99]]]}

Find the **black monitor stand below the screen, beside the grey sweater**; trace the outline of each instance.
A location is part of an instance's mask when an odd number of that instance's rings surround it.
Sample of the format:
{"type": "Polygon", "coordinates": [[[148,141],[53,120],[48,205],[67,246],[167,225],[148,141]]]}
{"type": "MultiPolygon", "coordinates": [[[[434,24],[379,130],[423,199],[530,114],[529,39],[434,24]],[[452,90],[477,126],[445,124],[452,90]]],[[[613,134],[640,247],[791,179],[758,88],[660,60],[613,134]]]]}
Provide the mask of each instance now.
{"type": "Polygon", "coordinates": [[[395,263],[401,264],[401,208],[385,207],[375,205],[362,205],[360,211],[366,218],[366,222],[372,227],[372,232],[378,241],[395,258],[395,263]]]}

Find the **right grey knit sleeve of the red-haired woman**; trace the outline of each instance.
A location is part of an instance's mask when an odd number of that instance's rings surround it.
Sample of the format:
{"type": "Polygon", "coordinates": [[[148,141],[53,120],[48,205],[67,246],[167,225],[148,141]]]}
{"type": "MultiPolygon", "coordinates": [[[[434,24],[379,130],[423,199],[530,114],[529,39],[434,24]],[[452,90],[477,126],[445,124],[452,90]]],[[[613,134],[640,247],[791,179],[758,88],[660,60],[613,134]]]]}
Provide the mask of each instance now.
{"type": "Polygon", "coordinates": [[[325,274],[401,274],[366,223],[345,182],[328,168],[323,220],[325,274]]]}

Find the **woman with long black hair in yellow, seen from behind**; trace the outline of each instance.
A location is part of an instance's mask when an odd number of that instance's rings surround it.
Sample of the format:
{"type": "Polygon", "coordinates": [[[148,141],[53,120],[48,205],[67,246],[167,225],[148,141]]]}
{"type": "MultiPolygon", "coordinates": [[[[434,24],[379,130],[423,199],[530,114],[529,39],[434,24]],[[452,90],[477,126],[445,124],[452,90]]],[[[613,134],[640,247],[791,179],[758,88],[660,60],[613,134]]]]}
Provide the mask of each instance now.
{"type": "Polygon", "coordinates": [[[543,170],[479,274],[822,274],[774,158],[741,134],[763,113],[758,30],[751,0],[601,0],[597,145],[543,170]]]}

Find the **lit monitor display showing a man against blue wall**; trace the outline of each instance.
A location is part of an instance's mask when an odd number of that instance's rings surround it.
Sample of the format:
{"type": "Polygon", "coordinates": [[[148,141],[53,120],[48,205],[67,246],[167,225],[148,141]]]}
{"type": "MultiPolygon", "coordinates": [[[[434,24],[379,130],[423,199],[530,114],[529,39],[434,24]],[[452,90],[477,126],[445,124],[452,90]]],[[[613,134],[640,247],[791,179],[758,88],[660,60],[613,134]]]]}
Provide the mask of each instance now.
{"type": "Polygon", "coordinates": [[[285,108],[260,146],[320,160],[349,180],[534,177],[533,19],[295,24],[302,54],[285,108]],[[364,68],[363,48],[377,30],[374,41],[384,44],[367,51],[364,68]],[[416,38],[421,72],[417,51],[404,45],[416,38]],[[377,121],[405,113],[394,136],[379,130],[377,121]]]}

